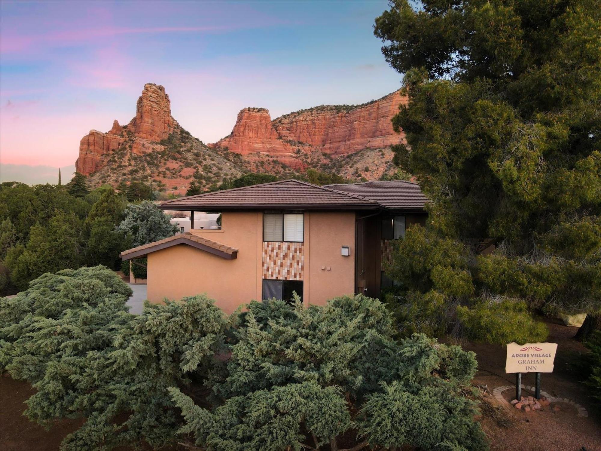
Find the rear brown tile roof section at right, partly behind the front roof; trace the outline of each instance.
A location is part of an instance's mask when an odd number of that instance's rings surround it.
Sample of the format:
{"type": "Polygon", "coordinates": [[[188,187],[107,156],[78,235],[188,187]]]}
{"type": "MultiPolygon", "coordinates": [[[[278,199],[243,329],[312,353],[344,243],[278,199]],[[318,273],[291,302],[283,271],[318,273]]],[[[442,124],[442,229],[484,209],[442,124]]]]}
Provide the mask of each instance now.
{"type": "Polygon", "coordinates": [[[404,180],[377,180],[374,182],[326,185],[348,195],[360,195],[391,210],[423,210],[430,200],[417,183],[404,180]]]}

